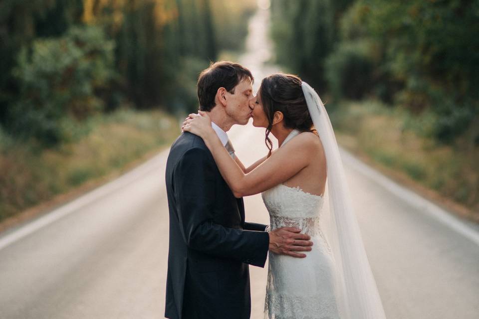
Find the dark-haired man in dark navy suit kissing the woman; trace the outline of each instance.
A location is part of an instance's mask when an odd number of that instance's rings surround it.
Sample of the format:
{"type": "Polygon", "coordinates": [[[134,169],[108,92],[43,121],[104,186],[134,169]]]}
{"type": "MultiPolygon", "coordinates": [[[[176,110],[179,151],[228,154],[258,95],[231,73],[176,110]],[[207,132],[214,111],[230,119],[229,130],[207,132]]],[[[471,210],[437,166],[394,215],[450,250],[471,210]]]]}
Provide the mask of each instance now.
{"type": "MultiPolygon", "coordinates": [[[[229,149],[227,131],[250,118],[253,77],[240,64],[216,62],[198,79],[200,109],[229,149]]],[[[239,165],[240,162],[238,161],[239,165]]],[[[165,317],[248,319],[248,264],[264,267],[268,249],[297,256],[310,250],[309,236],[293,228],[266,232],[244,221],[242,198],[235,198],[203,140],[183,133],[166,166],[170,246],[165,317]]]]}

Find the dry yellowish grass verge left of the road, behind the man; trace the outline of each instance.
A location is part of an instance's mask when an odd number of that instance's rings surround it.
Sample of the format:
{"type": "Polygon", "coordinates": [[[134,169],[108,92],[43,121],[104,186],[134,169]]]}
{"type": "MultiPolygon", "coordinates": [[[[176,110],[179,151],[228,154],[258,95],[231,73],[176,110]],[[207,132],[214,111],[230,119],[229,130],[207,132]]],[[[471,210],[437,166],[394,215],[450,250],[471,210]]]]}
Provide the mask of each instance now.
{"type": "Polygon", "coordinates": [[[89,125],[88,135],[57,149],[0,145],[0,220],[120,171],[179,134],[178,122],[159,111],[120,110],[89,125]]]}

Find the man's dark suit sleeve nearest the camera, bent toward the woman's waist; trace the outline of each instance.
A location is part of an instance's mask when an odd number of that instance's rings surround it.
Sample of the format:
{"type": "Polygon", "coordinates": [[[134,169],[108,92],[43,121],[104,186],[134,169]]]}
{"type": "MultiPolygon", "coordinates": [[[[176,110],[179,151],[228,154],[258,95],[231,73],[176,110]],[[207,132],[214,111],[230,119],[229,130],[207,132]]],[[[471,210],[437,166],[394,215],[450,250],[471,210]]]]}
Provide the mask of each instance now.
{"type": "Polygon", "coordinates": [[[188,150],[173,177],[178,219],[188,247],[217,257],[264,267],[269,235],[227,228],[213,222],[215,164],[201,148],[188,150]]]}

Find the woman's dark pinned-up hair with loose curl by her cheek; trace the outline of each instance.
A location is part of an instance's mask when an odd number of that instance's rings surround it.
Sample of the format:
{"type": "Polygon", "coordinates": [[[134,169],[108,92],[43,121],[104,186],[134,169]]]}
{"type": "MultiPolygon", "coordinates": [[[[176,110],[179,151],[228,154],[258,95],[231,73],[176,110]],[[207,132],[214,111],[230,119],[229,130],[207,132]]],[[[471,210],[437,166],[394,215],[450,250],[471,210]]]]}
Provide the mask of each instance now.
{"type": "Polygon", "coordinates": [[[259,87],[261,104],[268,119],[264,142],[269,149],[269,155],[273,144],[269,139],[269,133],[273,127],[274,113],[279,111],[283,114],[284,127],[295,129],[300,132],[315,132],[312,129],[313,120],[309,115],[306,99],[301,88],[301,79],[292,74],[274,73],[265,77],[259,87]]]}

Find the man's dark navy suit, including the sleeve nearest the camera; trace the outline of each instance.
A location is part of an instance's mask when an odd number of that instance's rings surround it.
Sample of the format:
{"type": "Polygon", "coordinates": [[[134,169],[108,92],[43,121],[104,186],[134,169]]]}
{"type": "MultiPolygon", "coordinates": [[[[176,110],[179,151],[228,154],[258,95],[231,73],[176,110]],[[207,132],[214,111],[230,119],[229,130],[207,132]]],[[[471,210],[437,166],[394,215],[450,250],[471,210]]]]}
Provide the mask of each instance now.
{"type": "Polygon", "coordinates": [[[245,223],[203,140],[183,133],[166,165],[170,247],[165,317],[247,319],[248,264],[264,267],[265,225],[245,223]]]}

